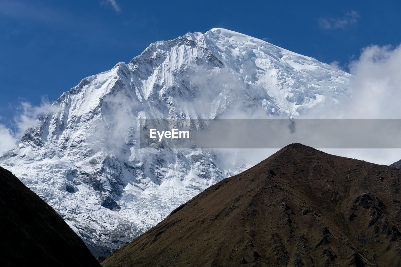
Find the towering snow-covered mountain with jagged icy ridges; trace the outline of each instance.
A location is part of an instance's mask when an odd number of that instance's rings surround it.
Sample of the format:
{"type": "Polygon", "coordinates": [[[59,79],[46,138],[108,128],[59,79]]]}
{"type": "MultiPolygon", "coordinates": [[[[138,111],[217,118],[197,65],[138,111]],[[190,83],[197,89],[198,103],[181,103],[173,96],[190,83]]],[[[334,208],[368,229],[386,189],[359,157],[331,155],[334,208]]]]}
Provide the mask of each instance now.
{"type": "Polygon", "coordinates": [[[107,255],[249,167],[213,150],[141,149],[140,119],[296,117],[346,94],[349,78],[238,32],[188,33],[63,93],[0,165],[107,255]]]}

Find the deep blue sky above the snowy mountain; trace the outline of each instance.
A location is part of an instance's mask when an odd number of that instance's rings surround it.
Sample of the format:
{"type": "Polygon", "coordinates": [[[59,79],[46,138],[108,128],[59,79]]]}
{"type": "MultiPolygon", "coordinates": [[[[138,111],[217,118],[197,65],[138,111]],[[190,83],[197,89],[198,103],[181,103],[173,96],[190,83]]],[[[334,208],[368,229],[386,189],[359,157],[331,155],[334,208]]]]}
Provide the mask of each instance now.
{"type": "Polygon", "coordinates": [[[84,77],[128,63],[151,42],[227,28],[348,64],[401,42],[399,1],[0,1],[0,123],[21,102],[53,102],[84,77]]]}

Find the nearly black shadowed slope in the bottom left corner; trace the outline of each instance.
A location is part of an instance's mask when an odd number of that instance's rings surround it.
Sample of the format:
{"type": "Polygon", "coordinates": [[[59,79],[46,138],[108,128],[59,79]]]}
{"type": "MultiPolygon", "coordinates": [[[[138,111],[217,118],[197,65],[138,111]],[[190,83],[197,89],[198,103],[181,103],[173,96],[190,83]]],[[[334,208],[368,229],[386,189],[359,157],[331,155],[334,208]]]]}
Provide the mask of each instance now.
{"type": "Polygon", "coordinates": [[[48,204],[0,167],[0,266],[99,266],[48,204]]]}

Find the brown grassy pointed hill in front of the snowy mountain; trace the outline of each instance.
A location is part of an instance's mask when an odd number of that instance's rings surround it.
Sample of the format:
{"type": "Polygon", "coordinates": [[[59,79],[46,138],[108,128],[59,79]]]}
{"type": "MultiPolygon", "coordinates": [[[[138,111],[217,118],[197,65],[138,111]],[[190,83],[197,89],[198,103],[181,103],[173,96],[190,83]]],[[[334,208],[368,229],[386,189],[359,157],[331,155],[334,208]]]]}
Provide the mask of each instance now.
{"type": "Polygon", "coordinates": [[[286,146],[211,186],[103,266],[401,266],[401,171],[286,146]]]}

